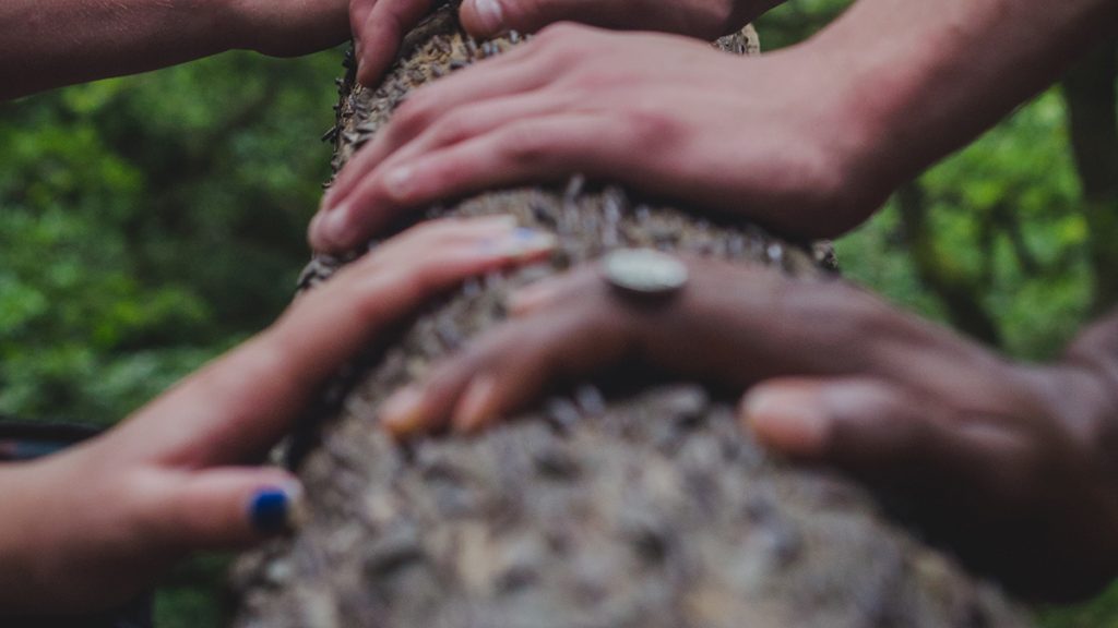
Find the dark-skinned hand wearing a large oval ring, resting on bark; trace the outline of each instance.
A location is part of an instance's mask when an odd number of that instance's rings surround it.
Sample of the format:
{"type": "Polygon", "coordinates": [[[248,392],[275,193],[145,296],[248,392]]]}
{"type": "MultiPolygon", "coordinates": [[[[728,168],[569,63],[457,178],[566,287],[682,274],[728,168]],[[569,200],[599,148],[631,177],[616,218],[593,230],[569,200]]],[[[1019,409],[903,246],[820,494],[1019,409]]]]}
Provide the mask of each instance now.
{"type": "Polygon", "coordinates": [[[1061,598],[1115,574],[1118,416],[1097,369],[1013,365],[839,280],[689,266],[659,307],[597,268],[530,286],[513,321],[386,401],[385,425],[472,431],[558,382],[639,361],[752,386],[741,417],[761,443],[908,497],[930,533],[1018,592],[1061,598]]]}

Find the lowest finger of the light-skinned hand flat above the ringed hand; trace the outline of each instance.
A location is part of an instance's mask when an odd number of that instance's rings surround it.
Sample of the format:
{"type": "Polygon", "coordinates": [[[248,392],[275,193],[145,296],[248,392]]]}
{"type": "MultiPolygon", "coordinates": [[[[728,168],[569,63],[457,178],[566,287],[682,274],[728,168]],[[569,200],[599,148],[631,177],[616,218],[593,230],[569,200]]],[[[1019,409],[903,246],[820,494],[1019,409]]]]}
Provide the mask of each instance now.
{"type": "MultiPolygon", "coordinates": [[[[482,190],[604,174],[619,150],[616,125],[594,114],[521,120],[444,150],[378,169],[319,226],[321,242],[345,249],[405,208],[482,190]]],[[[632,155],[629,155],[632,156],[632,155]]]]}

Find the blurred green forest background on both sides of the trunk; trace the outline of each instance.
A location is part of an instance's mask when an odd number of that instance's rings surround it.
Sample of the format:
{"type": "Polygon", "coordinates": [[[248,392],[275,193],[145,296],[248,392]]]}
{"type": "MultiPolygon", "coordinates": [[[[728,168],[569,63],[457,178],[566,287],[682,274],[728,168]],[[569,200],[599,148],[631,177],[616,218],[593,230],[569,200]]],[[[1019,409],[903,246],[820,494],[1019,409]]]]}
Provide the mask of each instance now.
{"type": "MultiPolygon", "coordinates": [[[[845,3],[794,0],[761,20],[765,47],[845,3]]],[[[906,185],[837,242],[845,274],[1014,358],[1055,354],[1118,294],[1114,57],[906,185]],[[1073,134],[1069,104],[1101,115],[1073,134]]],[[[328,175],[340,59],[233,53],[0,104],[0,413],[111,425],[282,311],[328,175]]],[[[226,562],[163,583],[163,628],[220,625],[226,562]]],[[[1118,593],[1040,612],[1118,626],[1118,593]]]]}

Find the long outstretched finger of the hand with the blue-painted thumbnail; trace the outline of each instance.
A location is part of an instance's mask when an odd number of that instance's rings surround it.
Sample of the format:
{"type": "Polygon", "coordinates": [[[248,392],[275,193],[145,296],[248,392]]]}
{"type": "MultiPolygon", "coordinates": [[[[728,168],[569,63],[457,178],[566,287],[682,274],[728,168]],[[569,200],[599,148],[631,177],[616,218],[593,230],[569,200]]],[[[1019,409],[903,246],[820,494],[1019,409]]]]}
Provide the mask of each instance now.
{"type": "Polygon", "coordinates": [[[386,325],[467,276],[538,259],[553,245],[551,236],[503,218],[413,228],[144,408],[114,438],[167,464],[252,459],[283,436],[319,383],[386,325]]]}

